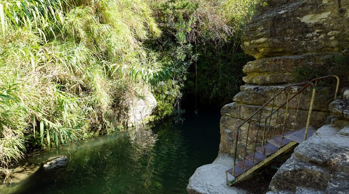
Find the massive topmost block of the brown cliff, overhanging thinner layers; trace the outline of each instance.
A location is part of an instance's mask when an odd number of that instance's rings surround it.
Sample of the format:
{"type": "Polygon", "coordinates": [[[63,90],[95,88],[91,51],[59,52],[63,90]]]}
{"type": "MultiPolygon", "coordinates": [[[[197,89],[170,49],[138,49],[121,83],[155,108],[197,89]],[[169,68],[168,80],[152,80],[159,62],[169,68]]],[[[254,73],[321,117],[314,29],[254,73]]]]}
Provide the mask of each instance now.
{"type": "Polygon", "coordinates": [[[256,59],[348,48],[348,0],[269,0],[244,31],[243,49],[256,59]]]}

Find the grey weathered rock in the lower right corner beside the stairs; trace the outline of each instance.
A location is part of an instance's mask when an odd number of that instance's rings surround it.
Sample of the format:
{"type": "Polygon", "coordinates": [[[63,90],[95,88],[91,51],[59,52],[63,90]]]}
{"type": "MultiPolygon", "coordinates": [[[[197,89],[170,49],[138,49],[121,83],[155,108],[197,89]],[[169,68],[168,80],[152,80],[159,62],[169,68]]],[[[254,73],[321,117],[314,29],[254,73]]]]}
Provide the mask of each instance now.
{"type": "Polygon", "coordinates": [[[298,194],[300,188],[319,194],[349,193],[349,118],[343,114],[349,109],[349,99],[343,96],[330,104],[331,123],[297,146],[280,167],[269,194],[298,194]]]}

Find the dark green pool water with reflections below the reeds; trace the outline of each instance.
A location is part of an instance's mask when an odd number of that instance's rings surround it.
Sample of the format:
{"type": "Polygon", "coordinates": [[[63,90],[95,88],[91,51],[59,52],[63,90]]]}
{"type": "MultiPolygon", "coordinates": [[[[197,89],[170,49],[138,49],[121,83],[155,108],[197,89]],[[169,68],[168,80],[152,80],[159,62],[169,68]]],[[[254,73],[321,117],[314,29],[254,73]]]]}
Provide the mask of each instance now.
{"type": "Polygon", "coordinates": [[[24,193],[184,194],[195,169],[217,156],[219,118],[219,112],[187,114],[182,125],[169,119],[62,148],[58,154],[40,153],[33,162],[62,154],[71,161],[35,178],[24,193]]]}

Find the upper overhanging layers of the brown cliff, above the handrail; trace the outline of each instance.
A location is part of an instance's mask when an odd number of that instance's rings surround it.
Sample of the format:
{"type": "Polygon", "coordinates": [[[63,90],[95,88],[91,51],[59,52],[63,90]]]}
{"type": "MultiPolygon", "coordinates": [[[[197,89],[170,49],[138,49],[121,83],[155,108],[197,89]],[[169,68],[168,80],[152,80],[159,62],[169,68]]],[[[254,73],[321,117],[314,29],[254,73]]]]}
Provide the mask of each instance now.
{"type": "Polygon", "coordinates": [[[349,0],[269,0],[265,14],[246,27],[243,49],[257,60],[244,67],[248,84],[294,81],[301,65],[328,63],[349,47],[349,0]]]}

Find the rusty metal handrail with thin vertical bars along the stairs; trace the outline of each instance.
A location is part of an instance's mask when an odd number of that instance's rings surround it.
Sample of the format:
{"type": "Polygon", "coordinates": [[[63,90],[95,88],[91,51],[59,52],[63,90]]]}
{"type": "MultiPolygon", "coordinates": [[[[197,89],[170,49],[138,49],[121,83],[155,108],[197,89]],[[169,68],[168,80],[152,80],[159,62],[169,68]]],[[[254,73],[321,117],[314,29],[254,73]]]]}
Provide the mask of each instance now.
{"type": "MultiPolygon", "coordinates": [[[[246,158],[246,152],[247,152],[247,143],[248,143],[248,134],[249,134],[249,130],[250,130],[250,125],[251,125],[251,119],[260,112],[260,116],[259,116],[259,123],[258,123],[258,129],[257,129],[257,135],[256,135],[256,141],[255,141],[255,145],[254,145],[254,149],[256,148],[256,144],[257,144],[257,139],[258,139],[258,133],[259,133],[259,129],[260,129],[260,120],[261,120],[261,116],[262,116],[262,112],[263,109],[271,102],[273,101],[273,105],[271,108],[271,113],[265,118],[265,123],[264,123],[264,131],[263,131],[263,139],[262,139],[262,146],[264,145],[264,140],[265,140],[265,133],[266,133],[266,127],[267,127],[267,121],[268,118],[270,118],[270,122],[271,122],[271,116],[274,113],[278,113],[279,114],[279,110],[285,106],[287,104],[287,108],[286,108],[286,114],[285,114],[285,121],[284,121],[284,128],[282,131],[282,135],[284,135],[284,129],[285,129],[285,124],[286,124],[286,117],[287,117],[287,111],[288,111],[288,103],[290,100],[292,100],[294,97],[298,96],[299,94],[301,94],[301,92],[303,90],[305,90],[307,87],[314,85],[314,82],[316,83],[319,80],[323,80],[323,79],[327,79],[327,78],[336,78],[337,80],[337,84],[336,84],[336,89],[335,89],[335,94],[334,94],[334,99],[337,98],[337,93],[338,93],[338,89],[339,89],[339,78],[338,76],[335,75],[329,75],[329,76],[325,76],[325,77],[321,77],[321,78],[316,78],[313,79],[311,81],[305,81],[305,82],[300,82],[300,83],[294,83],[294,84],[289,84],[286,85],[282,90],[280,90],[276,95],[274,95],[273,97],[270,98],[269,101],[267,101],[266,103],[264,103],[257,111],[255,111],[254,113],[252,113],[247,119],[244,120],[244,122],[242,122],[239,126],[238,126],[238,130],[237,130],[237,134],[236,134],[236,139],[235,139],[235,153],[234,153],[234,165],[233,165],[233,175],[235,174],[235,164],[236,164],[236,158],[237,158],[237,152],[238,152],[238,137],[239,137],[239,130],[240,128],[246,124],[247,122],[249,122],[249,127],[248,127],[248,131],[247,131],[247,137],[246,137],[246,144],[245,144],[245,154],[244,154],[244,159],[246,158]],[[275,103],[275,98],[278,97],[282,92],[284,92],[287,88],[290,87],[296,87],[296,86],[303,86],[300,90],[298,90],[292,97],[289,97],[289,95],[287,95],[287,100],[285,103],[283,103],[281,106],[279,106],[279,108],[277,108],[276,110],[273,110],[274,108],[274,103],[275,103]]],[[[314,98],[315,98],[315,88],[313,89],[313,94],[312,94],[312,99],[311,99],[311,104],[309,107],[309,113],[308,113],[308,118],[307,118],[307,124],[306,124],[306,128],[305,128],[305,135],[304,135],[304,139],[306,138],[307,132],[308,132],[308,128],[309,128],[309,123],[310,123],[310,117],[311,117],[311,112],[312,112],[312,106],[314,103],[314,98]]],[[[295,116],[295,122],[294,122],[294,126],[293,129],[295,127],[295,123],[296,123],[296,119],[297,119],[297,115],[298,115],[298,110],[299,110],[299,104],[300,101],[298,102],[298,107],[297,107],[297,112],[296,112],[296,116],[295,116]]],[[[277,119],[276,118],[276,123],[277,123],[277,119]]],[[[270,128],[270,122],[269,122],[269,128],[270,128]]],[[[274,127],[274,135],[275,135],[275,128],[276,128],[276,123],[275,123],[275,127],[274,127]]],[[[269,128],[268,128],[268,133],[269,133],[269,128]]],[[[268,136],[268,135],[267,135],[268,136]]],[[[282,139],[282,138],[281,138],[282,139]]],[[[281,142],[282,144],[282,142],[281,142]]],[[[266,146],[265,146],[266,147],[266,146]]],[[[264,150],[265,151],[265,150],[264,150]]],[[[254,155],[255,155],[255,150],[254,150],[254,155]]],[[[254,161],[254,156],[253,156],[253,161],[254,161]]],[[[242,164],[242,168],[244,167],[244,163],[242,164]]]]}

